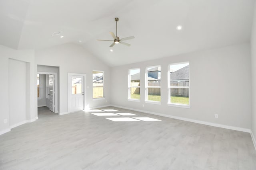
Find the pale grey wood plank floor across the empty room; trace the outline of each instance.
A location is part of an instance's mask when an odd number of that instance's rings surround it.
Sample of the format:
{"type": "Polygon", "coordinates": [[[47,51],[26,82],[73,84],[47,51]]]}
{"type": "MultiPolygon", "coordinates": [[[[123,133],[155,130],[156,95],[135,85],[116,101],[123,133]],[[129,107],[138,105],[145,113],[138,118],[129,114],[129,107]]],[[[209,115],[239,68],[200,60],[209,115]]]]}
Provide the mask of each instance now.
{"type": "Polygon", "coordinates": [[[116,109],[56,115],[0,135],[0,169],[36,170],[256,170],[250,133],[116,109]],[[97,116],[91,113],[134,113],[97,116]],[[150,117],[161,121],[111,121],[150,117]]]}

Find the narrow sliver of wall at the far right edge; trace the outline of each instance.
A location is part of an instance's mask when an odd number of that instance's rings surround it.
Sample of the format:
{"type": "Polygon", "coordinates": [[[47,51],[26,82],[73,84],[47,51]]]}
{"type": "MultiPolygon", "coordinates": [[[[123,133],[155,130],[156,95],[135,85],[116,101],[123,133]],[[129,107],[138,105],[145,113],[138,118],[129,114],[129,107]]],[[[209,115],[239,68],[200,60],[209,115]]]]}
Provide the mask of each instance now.
{"type": "Polygon", "coordinates": [[[251,37],[252,55],[252,133],[256,137],[256,3],[254,5],[254,19],[251,37]]]}

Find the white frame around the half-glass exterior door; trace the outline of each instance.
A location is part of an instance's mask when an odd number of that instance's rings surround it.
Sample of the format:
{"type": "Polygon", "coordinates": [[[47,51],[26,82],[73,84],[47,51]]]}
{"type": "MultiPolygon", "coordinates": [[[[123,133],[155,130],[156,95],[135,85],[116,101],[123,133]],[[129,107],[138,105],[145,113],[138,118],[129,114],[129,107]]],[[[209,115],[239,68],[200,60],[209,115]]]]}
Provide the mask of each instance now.
{"type": "MultiPolygon", "coordinates": [[[[81,74],[81,73],[70,73],[70,72],[68,72],[68,113],[71,113],[70,112],[70,94],[71,94],[71,88],[69,87],[69,77],[71,76],[71,75],[74,75],[74,76],[84,76],[84,109],[85,109],[85,107],[86,107],[86,95],[87,95],[87,93],[86,93],[86,74],[81,74]]],[[[83,109],[83,110],[84,110],[83,109]]],[[[74,111],[75,112],[75,111],[74,111]]]]}

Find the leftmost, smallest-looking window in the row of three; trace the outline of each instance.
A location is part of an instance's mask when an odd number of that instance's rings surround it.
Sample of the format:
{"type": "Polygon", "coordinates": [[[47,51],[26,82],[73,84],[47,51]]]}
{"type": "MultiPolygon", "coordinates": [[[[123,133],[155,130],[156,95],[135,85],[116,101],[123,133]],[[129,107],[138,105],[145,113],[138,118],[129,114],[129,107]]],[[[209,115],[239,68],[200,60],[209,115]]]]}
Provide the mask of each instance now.
{"type": "Polygon", "coordinates": [[[129,70],[128,99],[140,100],[140,68],[129,70]]]}

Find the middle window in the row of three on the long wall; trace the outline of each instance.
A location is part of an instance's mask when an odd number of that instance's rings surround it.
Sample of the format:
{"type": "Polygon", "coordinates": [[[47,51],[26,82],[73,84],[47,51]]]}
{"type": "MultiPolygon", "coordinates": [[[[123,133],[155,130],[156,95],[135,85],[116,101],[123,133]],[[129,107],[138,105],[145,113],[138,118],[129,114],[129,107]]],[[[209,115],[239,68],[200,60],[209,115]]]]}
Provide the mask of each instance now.
{"type": "Polygon", "coordinates": [[[161,66],[146,68],[146,101],[161,102],[161,66]]]}

